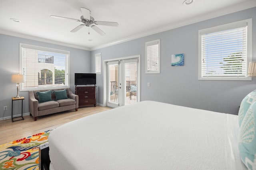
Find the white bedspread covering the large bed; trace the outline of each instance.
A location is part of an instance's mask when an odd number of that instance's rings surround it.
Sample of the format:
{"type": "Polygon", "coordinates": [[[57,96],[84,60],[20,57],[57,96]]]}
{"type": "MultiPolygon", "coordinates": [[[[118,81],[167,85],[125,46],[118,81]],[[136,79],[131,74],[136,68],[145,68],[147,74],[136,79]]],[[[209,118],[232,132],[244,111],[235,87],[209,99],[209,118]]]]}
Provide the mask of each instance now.
{"type": "Polygon", "coordinates": [[[237,115],[144,101],[54,129],[50,159],[54,170],[242,170],[237,136],[237,115]]]}

